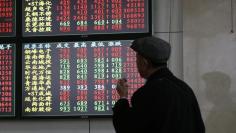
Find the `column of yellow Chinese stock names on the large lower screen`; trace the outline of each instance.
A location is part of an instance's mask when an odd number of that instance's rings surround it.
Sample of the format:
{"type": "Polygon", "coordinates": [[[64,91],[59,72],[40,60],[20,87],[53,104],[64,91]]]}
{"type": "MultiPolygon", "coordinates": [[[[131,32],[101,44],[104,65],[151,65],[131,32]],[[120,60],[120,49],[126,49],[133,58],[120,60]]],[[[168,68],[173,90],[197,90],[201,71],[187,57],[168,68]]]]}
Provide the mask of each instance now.
{"type": "MultiPolygon", "coordinates": [[[[26,48],[26,47],[25,47],[26,48]]],[[[24,53],[25,112],[52,111],[52,57],[49,44],[32,45],[24,53]]]]}

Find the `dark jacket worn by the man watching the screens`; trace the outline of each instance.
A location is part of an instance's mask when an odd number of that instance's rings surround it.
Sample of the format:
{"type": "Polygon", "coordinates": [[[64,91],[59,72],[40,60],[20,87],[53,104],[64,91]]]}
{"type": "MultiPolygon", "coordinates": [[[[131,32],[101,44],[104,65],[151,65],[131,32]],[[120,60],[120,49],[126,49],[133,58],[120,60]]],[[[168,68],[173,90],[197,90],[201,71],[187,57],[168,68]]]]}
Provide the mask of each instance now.
{"type": "Polygon", "coordinates": [[[116,133],[205,133],[192,89],[168,68],[152,74],[131,98],[113,108],[116,133]]]}

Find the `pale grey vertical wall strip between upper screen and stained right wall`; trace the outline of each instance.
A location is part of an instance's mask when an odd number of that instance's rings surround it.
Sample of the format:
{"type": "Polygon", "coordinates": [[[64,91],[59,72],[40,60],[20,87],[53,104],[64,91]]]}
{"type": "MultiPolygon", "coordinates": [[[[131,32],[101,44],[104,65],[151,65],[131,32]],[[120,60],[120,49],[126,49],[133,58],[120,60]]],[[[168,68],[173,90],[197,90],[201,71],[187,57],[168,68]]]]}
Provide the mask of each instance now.
{"type": "Polygon", "coordinates": [[[171,44],[169,68],[183,78],[182,0],[153,0],[154,35],[171,44]]]}

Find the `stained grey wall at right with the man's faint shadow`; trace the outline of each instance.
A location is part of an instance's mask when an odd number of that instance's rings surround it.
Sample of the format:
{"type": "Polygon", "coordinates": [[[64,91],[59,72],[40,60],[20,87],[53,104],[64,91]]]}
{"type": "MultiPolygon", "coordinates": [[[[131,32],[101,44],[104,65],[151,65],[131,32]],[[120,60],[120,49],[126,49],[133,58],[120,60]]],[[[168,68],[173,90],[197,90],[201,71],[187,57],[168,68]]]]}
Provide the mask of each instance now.
{"type": "Polygon", "coordinates": [[[198,97],[207,133],[236,132],[236,34],[230,33],[230,3],[184,0],[184,79],[198,97]]]}

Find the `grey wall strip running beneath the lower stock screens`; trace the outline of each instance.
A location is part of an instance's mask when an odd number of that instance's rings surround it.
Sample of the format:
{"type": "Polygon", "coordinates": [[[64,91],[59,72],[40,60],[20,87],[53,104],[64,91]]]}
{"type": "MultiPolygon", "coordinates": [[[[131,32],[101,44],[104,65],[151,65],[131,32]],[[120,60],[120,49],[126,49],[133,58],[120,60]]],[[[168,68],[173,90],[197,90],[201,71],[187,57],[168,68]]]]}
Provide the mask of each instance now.
{"type": "Polygon", "coordinates": [[[0,133],[115,133],[110,119],[1,120],[0,133]]]}

